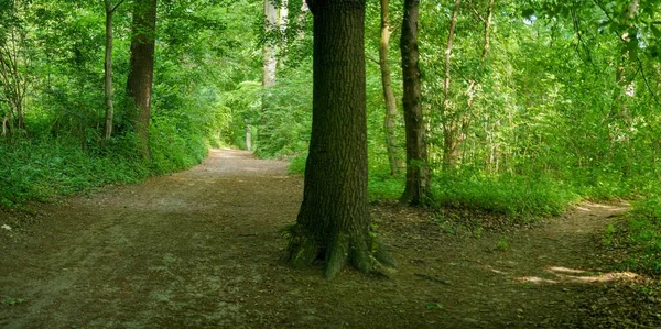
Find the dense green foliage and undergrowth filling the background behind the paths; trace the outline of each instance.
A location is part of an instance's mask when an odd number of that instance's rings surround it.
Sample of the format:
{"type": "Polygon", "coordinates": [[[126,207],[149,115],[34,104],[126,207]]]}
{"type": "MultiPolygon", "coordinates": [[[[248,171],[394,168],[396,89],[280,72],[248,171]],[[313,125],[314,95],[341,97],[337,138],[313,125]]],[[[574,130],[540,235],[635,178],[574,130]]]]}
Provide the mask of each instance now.
{"type": "MultiPolygon", "coordinates": [[[[115,133],[102,138],[105,11],[97,2],[0,0],[1,207],[189,167],[209,146],[245,149],[247,124],[259,156],[292,160],[292,172],[304,171],[312,20],[301,0],[274,2],[289,8],[279,29],[264,29],[259,1],[159,2],[149,158],[140,154],[124,91],[134,1],[119,2],[115,13],[115,133]],[[274,84],[262,88],[267,47],[278,64],[274,84]]],[[[388,164],[375,59],[379,3],[367,3],[370,198],[397,199],[404,176],[390,175],[388,164]]],[[[641,200],[630,239],[659,271],[660,4],[496,1],[490,11],[489,3],[421,3],[429,205],[530,219],[581,199],[641,200]]],[[[391,1],[398,99],[401,8],[391,1]]],[[[401,114],[394,135],[395,156],[404,158],[401,114]]]]}

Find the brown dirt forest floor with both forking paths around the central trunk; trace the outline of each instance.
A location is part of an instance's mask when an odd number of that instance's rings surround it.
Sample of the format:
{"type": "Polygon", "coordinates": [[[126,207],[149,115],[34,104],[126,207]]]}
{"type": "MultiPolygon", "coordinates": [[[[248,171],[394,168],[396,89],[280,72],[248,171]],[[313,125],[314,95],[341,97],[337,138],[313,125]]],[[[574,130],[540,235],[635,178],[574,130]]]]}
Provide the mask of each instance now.
{"type": "Polygon", "coordinates": [[[371,205],[395,273],[292,270],[284,228],[303,180],[214,150],[202,165],[28,212],[0,212],[2,328],[503,328],[661,326],[650,281],[613,271],[585,202],[512,227],[467,211],[371,205]]]}

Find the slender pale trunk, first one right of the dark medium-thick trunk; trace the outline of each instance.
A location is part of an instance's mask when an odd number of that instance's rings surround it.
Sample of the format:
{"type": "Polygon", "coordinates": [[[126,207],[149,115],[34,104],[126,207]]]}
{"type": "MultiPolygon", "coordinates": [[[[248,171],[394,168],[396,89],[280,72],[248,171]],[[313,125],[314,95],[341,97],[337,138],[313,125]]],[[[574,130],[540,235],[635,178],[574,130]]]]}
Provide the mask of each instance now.
{"type": "Polygon", "coordinates": [[[443,165],[446,168],[454,167],[456,165],[459,145],[464,141],[462,134],[462,118],[449,99],[449,85],[451,85],[451,56],[452,46],[454,42],[454,33],[457,25],[457,15],[462,0],[456,0],[454,10],[452,12],[452,19],[449,22],[449,33],[447,34],[447,46],[445,47],[445,77],[443,79],[444,99],[443,99],[443,165]]]}

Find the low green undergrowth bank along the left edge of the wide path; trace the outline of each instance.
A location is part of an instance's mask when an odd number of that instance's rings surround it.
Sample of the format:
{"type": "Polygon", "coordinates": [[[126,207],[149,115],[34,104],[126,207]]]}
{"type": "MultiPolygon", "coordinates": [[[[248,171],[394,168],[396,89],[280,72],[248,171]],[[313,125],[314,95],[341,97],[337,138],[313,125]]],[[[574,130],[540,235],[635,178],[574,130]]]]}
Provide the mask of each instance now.
{"type": "Polygon", "coordinates": [[[143,160],[131,145],[131,136],[87,150],[76,139],[0,141],[0,208],[19,209],[29,201],[51,201],[104,185],[137,183],[191,167],[207,154],[202,138],[169,133],[152,135],[151,161],[143,160]]]}

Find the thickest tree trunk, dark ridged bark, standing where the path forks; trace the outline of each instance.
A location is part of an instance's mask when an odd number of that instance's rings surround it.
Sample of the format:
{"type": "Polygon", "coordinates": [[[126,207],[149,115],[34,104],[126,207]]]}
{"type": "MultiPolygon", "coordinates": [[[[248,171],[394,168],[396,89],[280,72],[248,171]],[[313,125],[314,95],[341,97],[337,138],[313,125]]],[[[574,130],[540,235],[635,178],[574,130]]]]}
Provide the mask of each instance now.
{"type": "Polygon", "coordinates": [[[392,265],[370,234],[367,204],[365,0],[307,1],[314,15],[313,120],[303,204],[286,260],[370,272],[392,265]]]}

